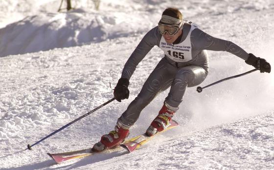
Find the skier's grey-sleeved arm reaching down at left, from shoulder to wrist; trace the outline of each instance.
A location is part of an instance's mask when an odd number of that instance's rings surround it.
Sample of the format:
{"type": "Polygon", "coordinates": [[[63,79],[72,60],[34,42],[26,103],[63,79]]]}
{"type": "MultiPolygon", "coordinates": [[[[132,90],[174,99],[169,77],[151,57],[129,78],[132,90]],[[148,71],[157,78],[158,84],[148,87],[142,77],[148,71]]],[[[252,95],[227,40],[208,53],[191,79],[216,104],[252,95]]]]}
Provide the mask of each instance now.
{"type": "Polygon", "coordinates": [[[150,30],[144,38],[137,45],[134,52],[131,54],[127,60],[124,69],[122,71],[122,78],[127,78],[128,80],[133,75],[139,62],[146,56],[146,54],[160,42],[160,33],[158,27],[150,30]]]}

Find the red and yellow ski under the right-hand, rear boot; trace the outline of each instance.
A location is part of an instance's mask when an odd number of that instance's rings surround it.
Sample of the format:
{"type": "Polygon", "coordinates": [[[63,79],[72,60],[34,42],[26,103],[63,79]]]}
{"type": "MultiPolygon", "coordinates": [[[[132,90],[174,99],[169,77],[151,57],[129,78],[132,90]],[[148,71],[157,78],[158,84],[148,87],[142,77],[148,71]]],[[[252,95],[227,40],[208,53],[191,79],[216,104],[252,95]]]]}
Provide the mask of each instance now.
{"type": "Polygon", "coordinates": [[[156,134],[154,134],[153,136],[147,136],[145,133],[138,135],[136,137],[133,137],[129,140],[127,140],[126,142],[124,142],[123,144],[121,144],[120,146],[124,149],[126,149],[129,152],[135,151],[137,150],[140,146],[144,145],[145,143],[147,143],[149,140],[153,139],[153,137],[161,134],[162,132],[166,132],[170,129],[173,129],[177,126],[179,126],[179,124],[175,121],[175,120],[171,120],[170,125],[163,131],[158,132],[156,134]]]}

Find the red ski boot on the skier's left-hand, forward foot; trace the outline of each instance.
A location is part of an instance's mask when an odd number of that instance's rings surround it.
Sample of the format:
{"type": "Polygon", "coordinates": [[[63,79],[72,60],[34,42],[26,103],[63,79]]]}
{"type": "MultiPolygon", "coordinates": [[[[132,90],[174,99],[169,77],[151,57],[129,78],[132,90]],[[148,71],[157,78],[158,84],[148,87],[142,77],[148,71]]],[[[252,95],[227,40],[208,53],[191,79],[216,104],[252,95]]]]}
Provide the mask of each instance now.
{"type": "Polygon", "coordinates": [[[116,125],[114,131],[111,131],[109,134],[105,134],[101,137],[100,142],[97,142],[93,146],[92,151],[103,151],[107,148],[114,148],[120,145],[128,135],[128,129],[123,129],[122,127],[116,125]]]}

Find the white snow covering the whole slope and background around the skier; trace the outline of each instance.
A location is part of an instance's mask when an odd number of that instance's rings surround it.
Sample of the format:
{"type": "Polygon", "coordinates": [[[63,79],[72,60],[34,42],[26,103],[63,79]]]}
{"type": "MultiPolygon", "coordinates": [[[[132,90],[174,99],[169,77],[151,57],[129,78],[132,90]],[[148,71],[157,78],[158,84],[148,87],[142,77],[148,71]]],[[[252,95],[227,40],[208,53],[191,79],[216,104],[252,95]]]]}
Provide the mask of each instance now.
{"type": "MultiPolygon", "coordinates": [[[[180,127],[141,149],[55,164],[46,152],[91,147],[113,130],[163,57],[155,47],[130,80],[130,97],[113,101],[26,149],[113,97],[112,88],[140,39],[161,12],[178,7],[208,34],[228,39],[274,63],[272,0],[91,0],[57,13],[60,0],[0,1],[1,170],[272,170],[274,74],[258,71],[206,88],[188,88],[175,119],[180,127]],[[24,2],[24,3],[20,3],[24,2]]],[[[202,87],[253,69],[227,52],[209,51],[202,87]]],[[[168,91],[141,113],[130,137],[145,132],[168,91]]]]}

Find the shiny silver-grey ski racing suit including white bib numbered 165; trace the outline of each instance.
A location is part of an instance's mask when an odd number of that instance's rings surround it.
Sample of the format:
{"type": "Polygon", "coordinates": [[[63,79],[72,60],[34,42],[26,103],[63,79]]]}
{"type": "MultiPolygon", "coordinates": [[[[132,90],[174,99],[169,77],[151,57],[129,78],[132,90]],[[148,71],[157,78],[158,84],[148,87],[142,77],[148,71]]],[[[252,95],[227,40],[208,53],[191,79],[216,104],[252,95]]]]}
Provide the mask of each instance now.
{"type": "Polygon", "coordinates": [[[142,38],[122,71],[122,78],[128,80],[133,75],[138,63],[155,46],[164,51],[164,57],[145,81],[140,93],[130,103],[127,110],[119,117],[117,123],[130,128],[138,119],[140,112],[155,96],[170,87],[165,103],[178,108],[187,87],[202,83],[208,73],[208,56],[206,50],[227,51],[244,60],[249,54],[233,42],[214,38],[194,24],[184,23],[183,36],[176,44],[168,44],[158,31],[151,29],[142,38]]]}

